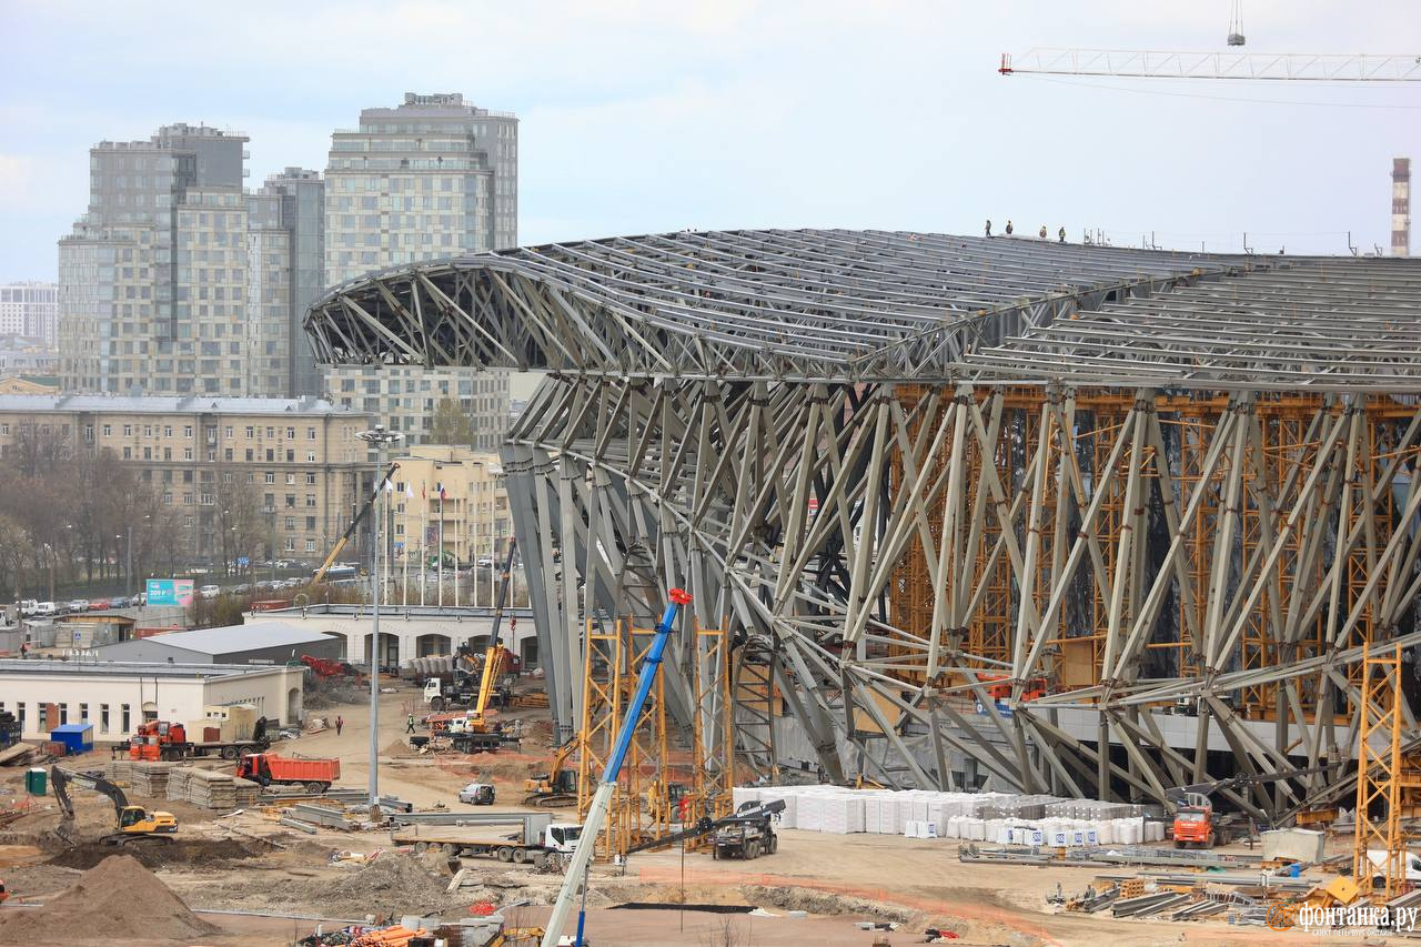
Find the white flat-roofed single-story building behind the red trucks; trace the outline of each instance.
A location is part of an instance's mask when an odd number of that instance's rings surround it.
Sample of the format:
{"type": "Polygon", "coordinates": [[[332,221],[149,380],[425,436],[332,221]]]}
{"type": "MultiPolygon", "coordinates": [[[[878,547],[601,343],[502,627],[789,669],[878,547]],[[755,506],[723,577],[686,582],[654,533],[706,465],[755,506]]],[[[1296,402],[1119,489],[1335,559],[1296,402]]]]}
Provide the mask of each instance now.
{"type": "Polygon", "coordinates": [[[0,711],[18,717],[24,739],[90,721],[98,744],[126,741],[145,719],[188,724],[207,718],[210,707],[233,704],[294,725],[303,715],[304,673],[286,664],[0,660],[0,711]]]}

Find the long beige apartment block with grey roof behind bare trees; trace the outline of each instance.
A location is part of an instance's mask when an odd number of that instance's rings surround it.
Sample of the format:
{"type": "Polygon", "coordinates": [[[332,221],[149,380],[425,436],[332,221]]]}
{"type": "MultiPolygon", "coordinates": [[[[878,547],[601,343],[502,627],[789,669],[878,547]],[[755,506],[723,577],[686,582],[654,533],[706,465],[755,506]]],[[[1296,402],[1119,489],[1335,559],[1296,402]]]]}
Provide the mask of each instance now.
{"type": "Polygon", "coordinates": [[[318,398],[0,395],[0,456],[26,438],[108,449],[172,508],[183,555],[318,560],[372,476],[368,425],[318,398]]]}

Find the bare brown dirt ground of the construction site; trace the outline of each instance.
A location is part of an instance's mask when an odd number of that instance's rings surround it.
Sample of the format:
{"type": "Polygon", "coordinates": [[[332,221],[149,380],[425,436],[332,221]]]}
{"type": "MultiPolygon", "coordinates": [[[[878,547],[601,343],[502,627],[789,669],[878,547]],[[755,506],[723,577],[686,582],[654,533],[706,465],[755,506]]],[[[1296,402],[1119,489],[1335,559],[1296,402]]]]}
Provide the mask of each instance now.
{"type": "MultiPolygon", "coordinates": [[[[443,803],[475,810],[456,801],[460,786],[473,779],[497,786],[497,809],[522,809],[524,776],[546,769],[549,728],[546,711],[522,711],[523,752],[496,756],[431,759],[404,742],[406,714],[421,712],[412,687],[395,685],[381,695],[377,745],[382,748],[379,791],[414,802],[418,808],[443,803]]],[[[344,727],[303,735],[279,745],[280,752],[306,756],[338,756],[341,785],[365,788],[369,747],[365,704],[341,704],[317,711],[344,727]]],[[[105,754],[71,761],[80,768],[102,765],[105,754]]],[[[0,806],[18,798],[21,771],[0,769],[0,806]]],[[[239,917],[207,910],[244,910],[300,914],[331,923],[405,913],[465,914],[470,906],[527,903],[510,913],[510,923],[537,924],[557,894],[558,876],[513,872],[495,860],[466,859],[472,884],[446,893],[453,867],[446,859],[391,850],[387,832],[323,829],[314,836],[293,832],[260,812],[219,816],[166,799],[135,801],[178,815],[179,842],[139,849],[134,855],[173,892],[188,909],[217,931],[203,937],[212,944],[290,944],[311,933],[315,920],[239,917]],[[338,852],[369,855],[368,865],[333,863],[338,852]]],[[[112,826],[112,806],[92,793],[75,799],[78,828],[97,838],[112,826]]],[[[486,809],[479,809],[486,810],[486,809]]],[[[563,813],[564,816],[568,813],[563,813]]],[[[0,832],[0,879],[11,901],[0,916],[40,910],[23,903],[48,903],[77,883],[81,870],[95,867],[112,849],[98,845],[68,847],[51,838],[57,823],[53,799],[43,799],[31,815],[0,832]]],[[[834,836],[786,830],[774,856],[755,862],[713,862],[706,855],[679,850],[639,853],[625,870],[598,866],[588,896],[588,930],[601,944],[838,944],[870,947],[875,937],[890,944],[922,943],[922,930],[934,926],[959,934],[963,944],[1090,944],[1144,947],[1188,944],[1329,943],[1319,937],[1280,934],[1260,927],[1236,929],[1221,921],[1167,923],[1056,913],[1046,896],[1060,886],[1067,896],[1084,890],[1098,872],[1071,867],[1022,867],[968,865],[956,857],[956,843],[946,839],[898,836],[834,836]],[[627,901],[666,903],[666,910],[621,910],[627,901]],[[675,903],[753,904],[769,916],[725,916],[681,911],[675,903]],[[804,911],[807,916],[790,916],[804,911]],[[860,930],[858,921],[895,921],[891,933],[860,930]]],[[[77,937],[77,936],[75,936],[77,937]]],[[[0,931],[0,941],[4,941],[0,931]]],[[[97,941],[114,947],[189,943],[128,940],[105,936],[97,941]]],[[[85,943],[78,938],[53,943],[85,943]]],[[[195,943],[195,941],[193,941],[195,943]]],[[[1340,943],[1363,943],[1349,938],[1340,943]]]]}

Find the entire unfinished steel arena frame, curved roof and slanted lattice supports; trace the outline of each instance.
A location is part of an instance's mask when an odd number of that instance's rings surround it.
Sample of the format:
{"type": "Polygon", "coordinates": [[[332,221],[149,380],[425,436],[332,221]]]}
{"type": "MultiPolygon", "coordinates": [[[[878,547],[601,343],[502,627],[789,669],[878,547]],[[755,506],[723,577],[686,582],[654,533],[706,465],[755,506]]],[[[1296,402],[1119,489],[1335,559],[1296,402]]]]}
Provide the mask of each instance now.
{"type": "Polygon", "coordinates": [[[387,270],[307,330],[549,373],[503,456],[564,737],[584,621],[682,584],[757,681],[759,765],[1147,801],[1297,771],[1229,793],[1272,820],[1356,792],[1363,660],[1421,640],[1410,260],[686,232],[387,270]]]}

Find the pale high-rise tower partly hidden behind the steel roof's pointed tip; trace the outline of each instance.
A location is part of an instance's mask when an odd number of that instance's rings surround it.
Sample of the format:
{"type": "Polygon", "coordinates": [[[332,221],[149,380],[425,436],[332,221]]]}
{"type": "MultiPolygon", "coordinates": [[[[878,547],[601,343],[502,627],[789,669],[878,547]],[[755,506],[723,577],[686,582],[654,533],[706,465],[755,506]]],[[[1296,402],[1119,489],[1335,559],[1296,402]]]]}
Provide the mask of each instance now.
{"type": "MultiPolygon", "coordinates": [[[[325,279],[517,245],[517,118],[459,94],[405,94],[331,135],[325,168],[325,279]]],[[[408,444],[428,442],[455,401],[472,445],[493,448],[509,414],[506,371],[350,367],[327,373],[340,404],[375,414],[408,444]]]]}

